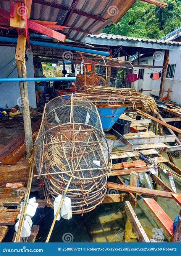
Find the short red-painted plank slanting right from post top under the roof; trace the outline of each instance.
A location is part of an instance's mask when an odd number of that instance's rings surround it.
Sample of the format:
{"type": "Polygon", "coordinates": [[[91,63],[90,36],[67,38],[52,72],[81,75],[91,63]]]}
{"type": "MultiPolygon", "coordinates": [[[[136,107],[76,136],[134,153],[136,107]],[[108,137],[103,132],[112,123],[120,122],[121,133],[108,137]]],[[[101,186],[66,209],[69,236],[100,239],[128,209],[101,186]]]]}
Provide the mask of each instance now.
{"type": "Polygon", "coordinates": [[[44,35],[47,35],[47,36],[50,36],[52,38],[55,38],[61,42],[65,42],[65,35],[55,31],[55,30],[52,30],[51,28],[47,28],[43,25],[40,25],[39,23],[36,23],[32,20],[27,20],[27,24],[28,24],[28,27],[31,28],[32,30],[34,31],[37,31],[41,34],[44,34],[44,35]]]}

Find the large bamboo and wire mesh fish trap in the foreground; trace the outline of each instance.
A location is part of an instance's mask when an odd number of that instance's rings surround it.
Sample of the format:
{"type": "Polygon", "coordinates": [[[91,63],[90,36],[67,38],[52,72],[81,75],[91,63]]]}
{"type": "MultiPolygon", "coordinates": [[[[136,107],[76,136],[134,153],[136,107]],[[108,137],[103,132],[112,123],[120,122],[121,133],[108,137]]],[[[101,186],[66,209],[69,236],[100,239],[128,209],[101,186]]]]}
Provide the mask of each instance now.
{"type": "Polygon", "coordinates": [[[72,213],[83,214],[102,203],[110,162],[107,140],[95,105],[81,96],[65,95],[45,105],[34,146],[34,159],[44,194],[53,200],[68,187],[72,213]]]}

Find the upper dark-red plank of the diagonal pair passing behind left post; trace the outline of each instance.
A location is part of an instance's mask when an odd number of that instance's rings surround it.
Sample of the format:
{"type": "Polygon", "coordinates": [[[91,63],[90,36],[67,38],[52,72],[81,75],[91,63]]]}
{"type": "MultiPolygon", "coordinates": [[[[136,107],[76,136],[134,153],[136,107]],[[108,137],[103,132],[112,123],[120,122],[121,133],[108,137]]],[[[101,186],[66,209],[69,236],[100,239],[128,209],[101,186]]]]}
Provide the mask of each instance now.
{"type": "MultiPolygon", "coordinates": [[[[41,123],[41,119],[39,119],[38,121],[34,122],[32,124],[32,132],[35,132],[37,129],[39,129],[41,123]]],[[[5,159],[8,155],[11,154],[11,152],[13,152],[13,150],[15,150],[16,152],[16,148],[24,143],[24,134],[19,134],[15,139],[11,140],[3,149],[0,150],[0,161],[2,162],[3,159],[5,159]]],[[[13,152],[13,153],[15,153],[13,152]]],[[[16,153],[17,155],[17,153],[16,153]]],[[[8,157],[7,163],[8,163],[8,159],[10,160],[10,157],[8,157]]]]}

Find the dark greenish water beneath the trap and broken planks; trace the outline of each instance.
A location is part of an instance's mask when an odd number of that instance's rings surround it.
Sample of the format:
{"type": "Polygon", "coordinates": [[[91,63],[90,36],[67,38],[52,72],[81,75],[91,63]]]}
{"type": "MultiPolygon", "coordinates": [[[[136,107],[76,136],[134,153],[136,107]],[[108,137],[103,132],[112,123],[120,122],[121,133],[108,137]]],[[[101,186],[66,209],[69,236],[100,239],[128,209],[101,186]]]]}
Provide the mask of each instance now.
{"type": "MultiPolygon", "coordinates": [[[[166,157],[166,155],[164,155],[166,157]]],[[[181,167],[181,159],[174,159],[175,164],[181,167]]],[[[144,173],[143,173],[144,176],[144,173]]],[[[161,172],[163,181],[170,186],[168,180],[168,174],[161,172]]],[[[125,183],[129,183],[129,175],[122,176],[125,183]]],[[[139,178],[139,175],[138,175],[139,178]]],[[[149,178],[150,179],[150,178],[149,178]]],[[[111,181],[114,181],[111,178],[111,181]]],[[[174,177],[177,192],[181,192],[180,182],[178,178],[174,177]]],[[[150,183],[152,180],[150,179],[150,183]]],[[[140,187],[147,187],[147,182],[144,176],[144,181],[138,184],[140,187]]],[[[160,190],[162,190],[160,188],[160,190]]],[[[128,200],[128,197],[126,198],[128,200]]],[[[136,215],[141,222],[147,236],[153,238],[155,232],[153,228],[162,228],[159,222],[154,218],[150,210],[145,206],[142,201],[142,197],[138,196],[138,206],[135,208],[136,215]]],[[[168,216],[172,220],[175,219],[179,213],[179,205],[175,200],[168,198],[158,198],[158,204],[163,208],[168,216]]],[[[39,209],[38,209],[39,210],[39,209]]],[[[40,210],[39,210],[40,211],[40,210]]],[[[36,239],[36,242],[43,242],[46,239],[46,235],[50,230],[50,226],[53,220],[53,210],[51,208],[45,208],[44,218],[40,220],[39,213],[36,214],[36,218],[33,220],[34,225],[40,225],[40,230],[36,239]]],[[[94,211],[81,215],[73,215],[71,220],[57,221],[53,230],[50,241],[62,242],[64,236],[68,236],[73,242],[121,242],[123,239],[124,225],[126,221],[126,214],[124,211],[124,201],[120,203],[102,204],[98,206],[94,211]],[[70,233],[70,234],[66,234],[70,233]]],[[[170,241],[170,237],[163,232],[163,240],[170,241]]],[[[136,242],[137,238],[133,234],[131,242],[136,242]]]]}

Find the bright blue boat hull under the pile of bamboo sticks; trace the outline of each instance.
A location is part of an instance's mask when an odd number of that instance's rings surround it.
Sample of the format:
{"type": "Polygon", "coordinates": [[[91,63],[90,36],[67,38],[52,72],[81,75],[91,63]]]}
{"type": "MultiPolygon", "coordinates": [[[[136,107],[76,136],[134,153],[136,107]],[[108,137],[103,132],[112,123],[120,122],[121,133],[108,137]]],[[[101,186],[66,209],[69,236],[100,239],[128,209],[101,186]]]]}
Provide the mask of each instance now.
{"type": "Polygon", "coordinates": [[[108,131],[112,128],[126,107],[112,108],[112,107],[98,107],[102,128],[108,131]]]}

